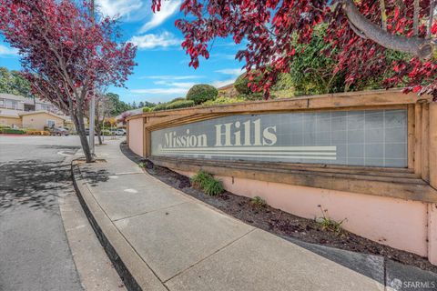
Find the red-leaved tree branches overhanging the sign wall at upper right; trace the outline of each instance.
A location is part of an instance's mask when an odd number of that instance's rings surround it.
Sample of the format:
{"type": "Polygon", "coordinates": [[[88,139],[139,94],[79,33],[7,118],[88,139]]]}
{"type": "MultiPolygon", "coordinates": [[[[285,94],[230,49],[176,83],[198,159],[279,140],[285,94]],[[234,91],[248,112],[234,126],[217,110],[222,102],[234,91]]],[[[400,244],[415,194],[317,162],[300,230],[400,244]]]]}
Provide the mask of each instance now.
{"type": "MultiPolygon", "coordinates": [[[[325,41],[339,50],[335,70],[347,72],[347,85],[390,70],[387,87],[406,84],[406,92],[437,98],[434,1],[185,0],[180,10],[186,19],[175,25],[185,35],[182,47],[195,68],[200,56],[208,59],[214,38],[232,35],[236,44],[246,39],[246,49],[236,57],[246,61],[248,71],[262,74],[260,82],[249,85],[264,91],[265,98],[279,73],[288,72],[300,53],[292,44],[309,44],[322,23],[328,25],[325,41]],[[381,65],[387,50],[404,53],[405,60],[381,65]]],[[[158,11],[160,4],[152,0],[152,10],[158,11]]]]}

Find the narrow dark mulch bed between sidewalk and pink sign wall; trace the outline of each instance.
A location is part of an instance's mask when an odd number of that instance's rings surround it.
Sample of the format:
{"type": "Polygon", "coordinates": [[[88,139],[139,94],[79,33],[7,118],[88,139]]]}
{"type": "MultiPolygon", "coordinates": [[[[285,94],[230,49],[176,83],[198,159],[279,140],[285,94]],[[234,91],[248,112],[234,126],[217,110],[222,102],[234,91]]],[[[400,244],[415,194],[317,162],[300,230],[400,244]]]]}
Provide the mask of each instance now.
{"type": "Polygon", "coordinates": [[[143,163],[145,163],[147,173],[169,186],[178,188],[189,196],[214,206],[229,216],[234,216],[251,226],[259,227],[272,234],[294,237],[312,244],[384,256],[405,265],[417,266],[423,270],[437,273],[437,266],[433,266],[426,257],[378,244],[346,230],[341,230],[340,233],[326,230],[315,220],[293,216],[270,206],[254,206],[250,198],[237,196],[228,191],[220,196],[208,196],[203,191],[192,187],[187,176],[182,176],[166,167],[155,166],[148,160],[143,161],[143,163]]]}

